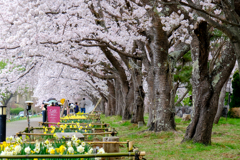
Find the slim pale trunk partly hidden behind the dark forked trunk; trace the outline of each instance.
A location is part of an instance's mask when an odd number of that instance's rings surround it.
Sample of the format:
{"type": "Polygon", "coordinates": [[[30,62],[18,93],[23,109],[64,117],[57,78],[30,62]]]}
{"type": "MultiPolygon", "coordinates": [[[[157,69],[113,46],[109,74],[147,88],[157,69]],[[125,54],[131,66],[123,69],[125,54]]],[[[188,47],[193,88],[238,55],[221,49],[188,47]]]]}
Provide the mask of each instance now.
{"type": "Polygon", "coordinates": [[[223,107],[224,107],[224,101],[225,101],[225,96],[226,96],[226,89],[227,89],[227,83],[228,81],[225,82],[225,84],[222,87],[221,93],[220,93],[220,97],[219,97],[219,102],[218,102],[218,110],[217,110],[217,114],[214,118],[214,123],[218,124],[218,121],[222,115],[222,111],[223,111],[223,107]]]}

